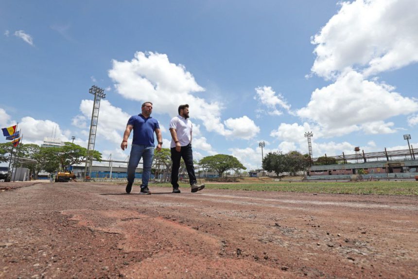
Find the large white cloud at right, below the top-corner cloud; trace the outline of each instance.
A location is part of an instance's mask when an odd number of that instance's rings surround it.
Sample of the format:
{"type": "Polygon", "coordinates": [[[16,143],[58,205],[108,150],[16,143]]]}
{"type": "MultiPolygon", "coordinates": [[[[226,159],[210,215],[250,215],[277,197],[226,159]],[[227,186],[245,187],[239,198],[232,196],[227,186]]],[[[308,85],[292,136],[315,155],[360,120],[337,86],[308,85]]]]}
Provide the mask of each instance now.
{"type": "Polygon", "coordinates": [[[316,89],[308,105],[296,113],[317,123],[330,135],[360,129],[369,133],[393,132],[390,123],[382,129],[383,120],[418,111],[416,99],[403,97],[394,90],[387,84],[364,79],[363,74],[348,71],[335,83],[316,89]],[[380,129],[370,128],[377,123],[380,129]]]}

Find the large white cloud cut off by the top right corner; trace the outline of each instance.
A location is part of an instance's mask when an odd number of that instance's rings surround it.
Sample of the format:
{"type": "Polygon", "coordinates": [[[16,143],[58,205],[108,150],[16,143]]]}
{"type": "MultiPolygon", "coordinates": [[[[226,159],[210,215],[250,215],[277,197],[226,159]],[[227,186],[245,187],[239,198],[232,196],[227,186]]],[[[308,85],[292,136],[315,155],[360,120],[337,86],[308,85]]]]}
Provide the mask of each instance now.
{"type": "Polygon", "coordinates": [[[418,1],[355,0],[312,38],[312,72],[334,78],[347,68],[367,76],[418,61],[418,1]]]}

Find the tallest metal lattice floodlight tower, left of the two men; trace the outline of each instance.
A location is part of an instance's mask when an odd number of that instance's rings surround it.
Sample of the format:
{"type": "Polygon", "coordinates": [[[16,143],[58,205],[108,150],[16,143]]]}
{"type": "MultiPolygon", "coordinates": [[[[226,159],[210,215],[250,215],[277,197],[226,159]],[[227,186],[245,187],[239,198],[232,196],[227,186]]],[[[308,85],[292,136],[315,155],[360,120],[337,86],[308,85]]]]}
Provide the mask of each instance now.
{"type": "Polygon", "coordinates": [[[84,169],[85,178],[90,176],[91,165],[93,162],[94,143],[96,142],[97,122],[99,120],[100,100],[106,97],[104,90],[93,85],[88,93],[94,95],[93,112],[91,113],[90,134],[88,136],[86,167],[84,169]]]}

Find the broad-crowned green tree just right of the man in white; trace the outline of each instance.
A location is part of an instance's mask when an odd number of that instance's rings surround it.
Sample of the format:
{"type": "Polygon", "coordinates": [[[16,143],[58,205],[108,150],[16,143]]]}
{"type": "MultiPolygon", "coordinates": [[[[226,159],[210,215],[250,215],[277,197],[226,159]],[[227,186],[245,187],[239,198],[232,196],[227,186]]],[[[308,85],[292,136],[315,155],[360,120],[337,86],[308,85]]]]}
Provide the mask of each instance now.
{"type": "Polygon", "coordinates": [[[247,169],[237,158],[225,154],[206,156],[199,161],[199,165],[210,171],[216,171],[219,176],[222,176],[222,173],[228,169],[247,169]]]}

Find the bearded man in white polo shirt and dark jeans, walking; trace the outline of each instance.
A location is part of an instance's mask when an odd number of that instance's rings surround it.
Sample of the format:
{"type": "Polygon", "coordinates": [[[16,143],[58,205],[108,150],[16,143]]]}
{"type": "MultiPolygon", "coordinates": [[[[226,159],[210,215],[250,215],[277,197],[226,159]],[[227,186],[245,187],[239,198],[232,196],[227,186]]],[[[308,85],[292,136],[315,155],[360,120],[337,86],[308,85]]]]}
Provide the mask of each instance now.
{"type": "Polygon", "coordinates": [[[171,133],[171,160],[173,161],[173,169],[171,172],[171,184],[173,185],[173,193],[180,193],[178,188],[178,170],[180,168],[180,159],[183,157],[186,164],[187,174],[189,175],[192,193],[205,188],[205,184],[197,185],[196,175],[193,166],[192,151],[192,121],[189,119],[189,105],[180,105],[178,107],[178,115],[170,121],[171,133]]]}

